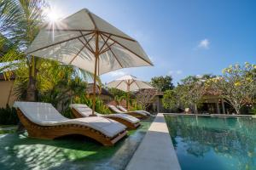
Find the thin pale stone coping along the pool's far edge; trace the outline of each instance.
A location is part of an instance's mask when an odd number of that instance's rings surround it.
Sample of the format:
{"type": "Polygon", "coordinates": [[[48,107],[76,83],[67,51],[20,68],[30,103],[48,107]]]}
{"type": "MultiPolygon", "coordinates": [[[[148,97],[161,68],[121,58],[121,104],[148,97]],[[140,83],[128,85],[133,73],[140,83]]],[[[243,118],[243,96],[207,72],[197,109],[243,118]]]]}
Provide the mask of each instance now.
{"type": "Polygon", "coordinates": [[[204,115],[204,114],[185,114],[185,113],[162,113],[164,115],[170,115],[170,116],[211,116],[211,117],[249,117],[249,118],[256,118],[255,115],[224,115],[224,114],[210,114],[210,115],[204,115]]]}

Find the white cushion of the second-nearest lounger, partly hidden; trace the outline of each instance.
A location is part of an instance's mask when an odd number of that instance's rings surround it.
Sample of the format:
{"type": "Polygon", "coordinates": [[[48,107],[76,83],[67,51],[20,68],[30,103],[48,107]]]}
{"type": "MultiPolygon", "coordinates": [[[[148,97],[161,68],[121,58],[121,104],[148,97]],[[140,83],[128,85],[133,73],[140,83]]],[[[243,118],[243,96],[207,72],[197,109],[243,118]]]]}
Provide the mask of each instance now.
{"type": "MultiPolygon", "coordinates": [[[[90,116],[92,114],[92,110],[90,109],[90,107],[88,107],[87,105],[84,105],[84,104],[72,104],[72,105],[70,105],[70,107],[72,107],[76,111],[79,111],[79,113],[83,116],[90,116]]],[[[102,114],[96,112],[96,115],[97,116],[119,117],[119,118],[124,119],[125,121],[131,122],[131,123],[140,122],[140,120],[137,119],[136,117],[130,116],[130,115],[127,115],[127,114],[123,114],[123,113],[102,115],[102,114]]]]}

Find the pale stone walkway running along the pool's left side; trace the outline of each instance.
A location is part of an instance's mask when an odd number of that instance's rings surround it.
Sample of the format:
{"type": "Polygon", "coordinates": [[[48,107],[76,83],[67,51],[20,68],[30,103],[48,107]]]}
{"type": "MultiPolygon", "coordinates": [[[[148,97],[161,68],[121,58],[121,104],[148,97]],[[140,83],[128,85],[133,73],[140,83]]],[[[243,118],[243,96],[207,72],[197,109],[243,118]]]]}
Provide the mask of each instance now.
{"type": "Polygon", "coordinates": [[[128,163],[126,170],[180,170],[164,114],[159,113],[148,128],[142,143],[128,163]]]}

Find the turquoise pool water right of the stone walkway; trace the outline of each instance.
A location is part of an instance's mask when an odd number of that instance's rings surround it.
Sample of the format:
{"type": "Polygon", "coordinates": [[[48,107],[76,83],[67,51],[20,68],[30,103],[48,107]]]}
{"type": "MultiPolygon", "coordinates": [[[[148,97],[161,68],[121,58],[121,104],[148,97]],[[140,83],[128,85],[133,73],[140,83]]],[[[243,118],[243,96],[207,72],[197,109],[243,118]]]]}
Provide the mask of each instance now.
{"type": "Polygon", "coordinates": [[[183,170],[256,169],[256,119],[166,116],[183,170]]]}

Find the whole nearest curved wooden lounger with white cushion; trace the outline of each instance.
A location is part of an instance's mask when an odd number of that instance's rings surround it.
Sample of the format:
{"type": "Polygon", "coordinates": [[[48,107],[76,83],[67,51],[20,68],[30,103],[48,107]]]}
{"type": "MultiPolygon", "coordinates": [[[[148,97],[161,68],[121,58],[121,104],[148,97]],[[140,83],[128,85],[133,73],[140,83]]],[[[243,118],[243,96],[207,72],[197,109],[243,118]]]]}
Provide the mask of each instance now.
{"type": "Polygon", "coordinates": [[[15,102],[14,106],[32,138],[55,139],[80,134],[103,145],[113,145],[127,134],[126,127],[119,122],[98,116],[68,119],[48,103],[15,102]]]}

